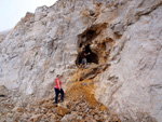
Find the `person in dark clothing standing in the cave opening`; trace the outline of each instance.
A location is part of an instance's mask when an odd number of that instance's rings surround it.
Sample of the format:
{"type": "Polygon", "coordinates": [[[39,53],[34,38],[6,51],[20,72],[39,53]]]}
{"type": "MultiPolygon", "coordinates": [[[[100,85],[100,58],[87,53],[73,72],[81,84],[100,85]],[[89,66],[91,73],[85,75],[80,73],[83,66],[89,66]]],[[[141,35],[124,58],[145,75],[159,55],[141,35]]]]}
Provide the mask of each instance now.
{"type": "Polygon", "coordinates": [[[85,48],[83,48],[82,52],[81,52],[81,65],[80,65],[80,68],[83,67],[84,65],[85,65],[85,68],[86,68],[86,65],[87,65],[86,56],[87,55],[90,55],[90,53],[86,53],[85,48]]]}

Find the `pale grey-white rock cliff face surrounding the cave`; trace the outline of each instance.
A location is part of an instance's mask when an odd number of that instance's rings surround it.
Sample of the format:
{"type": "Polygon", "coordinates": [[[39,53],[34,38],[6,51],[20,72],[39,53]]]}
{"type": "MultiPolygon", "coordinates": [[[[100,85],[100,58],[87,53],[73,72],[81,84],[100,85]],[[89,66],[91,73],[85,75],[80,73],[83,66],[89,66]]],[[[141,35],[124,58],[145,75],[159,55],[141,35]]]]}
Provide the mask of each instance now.
{"type": "Polygon", "coordinates": [[[82,76],[93,79],[96,99],[122,122],[160,122],[161,12],[161,0],[59,0],[38,8],[0,41],[0,85],[26,101],[51,94],[59,73],[66,90],[85,46],[95,68],[82,76]]]}

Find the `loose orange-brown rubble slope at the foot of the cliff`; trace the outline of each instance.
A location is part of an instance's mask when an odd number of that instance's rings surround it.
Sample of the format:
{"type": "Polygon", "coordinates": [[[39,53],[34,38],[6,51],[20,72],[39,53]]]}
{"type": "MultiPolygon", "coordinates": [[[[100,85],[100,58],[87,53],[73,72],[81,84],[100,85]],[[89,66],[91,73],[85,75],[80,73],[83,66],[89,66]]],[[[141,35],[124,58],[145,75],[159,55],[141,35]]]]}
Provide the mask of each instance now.
{"type": "Polygon", "coordinates": [[[119,117],[103,104],[96,101],[91,94],[92,80],[72,83],[65,101],[58,106],[54,97],[15,106],[9,99],[1,99],[0,121],[2,122],[121,122],[119,117]]]}

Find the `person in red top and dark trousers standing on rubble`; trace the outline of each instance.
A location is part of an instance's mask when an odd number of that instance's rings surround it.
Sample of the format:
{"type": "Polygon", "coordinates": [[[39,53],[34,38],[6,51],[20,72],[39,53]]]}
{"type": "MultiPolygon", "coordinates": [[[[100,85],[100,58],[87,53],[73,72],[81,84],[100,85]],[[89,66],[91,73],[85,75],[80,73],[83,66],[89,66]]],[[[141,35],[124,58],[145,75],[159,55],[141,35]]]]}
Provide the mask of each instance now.
{"type": "Polygon", "coordinates": [[[58,100],[58,95],[59,93],[62,94],[60,96],[60,101],[64,101],[64,91],[62,89],[62,81],[59,80],[60,76],[57,74],[56,76],[56,80],[55,80],[55,104],[57,105],[57,100],[58,100]]]}

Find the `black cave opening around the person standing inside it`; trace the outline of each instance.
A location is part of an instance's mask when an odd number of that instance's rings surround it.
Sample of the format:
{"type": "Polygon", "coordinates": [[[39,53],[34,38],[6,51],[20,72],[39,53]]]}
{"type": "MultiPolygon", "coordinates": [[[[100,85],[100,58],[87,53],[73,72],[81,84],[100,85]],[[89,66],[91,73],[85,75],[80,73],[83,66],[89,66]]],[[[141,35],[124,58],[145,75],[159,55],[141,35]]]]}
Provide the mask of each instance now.
{"type": "MultiPolygon", "coordinates": [[[[82,62],[82,58],[81,58],[81,53],[79,53],[78,57],[77,57],[77,60],[76,60],[76,64],[77,65],[80,65],[81,62],[82,62]]],[[[87,64],[91,64],[91,63],[94,63],[94,64],[98,64],[98,56],[97,54],[93,53],[91,48],[90,48],[90,44],[87,44],[85,46],[85,53],[90,53],[90,55],[86,56],[86,60],[87,60],[87,64]]]]}

